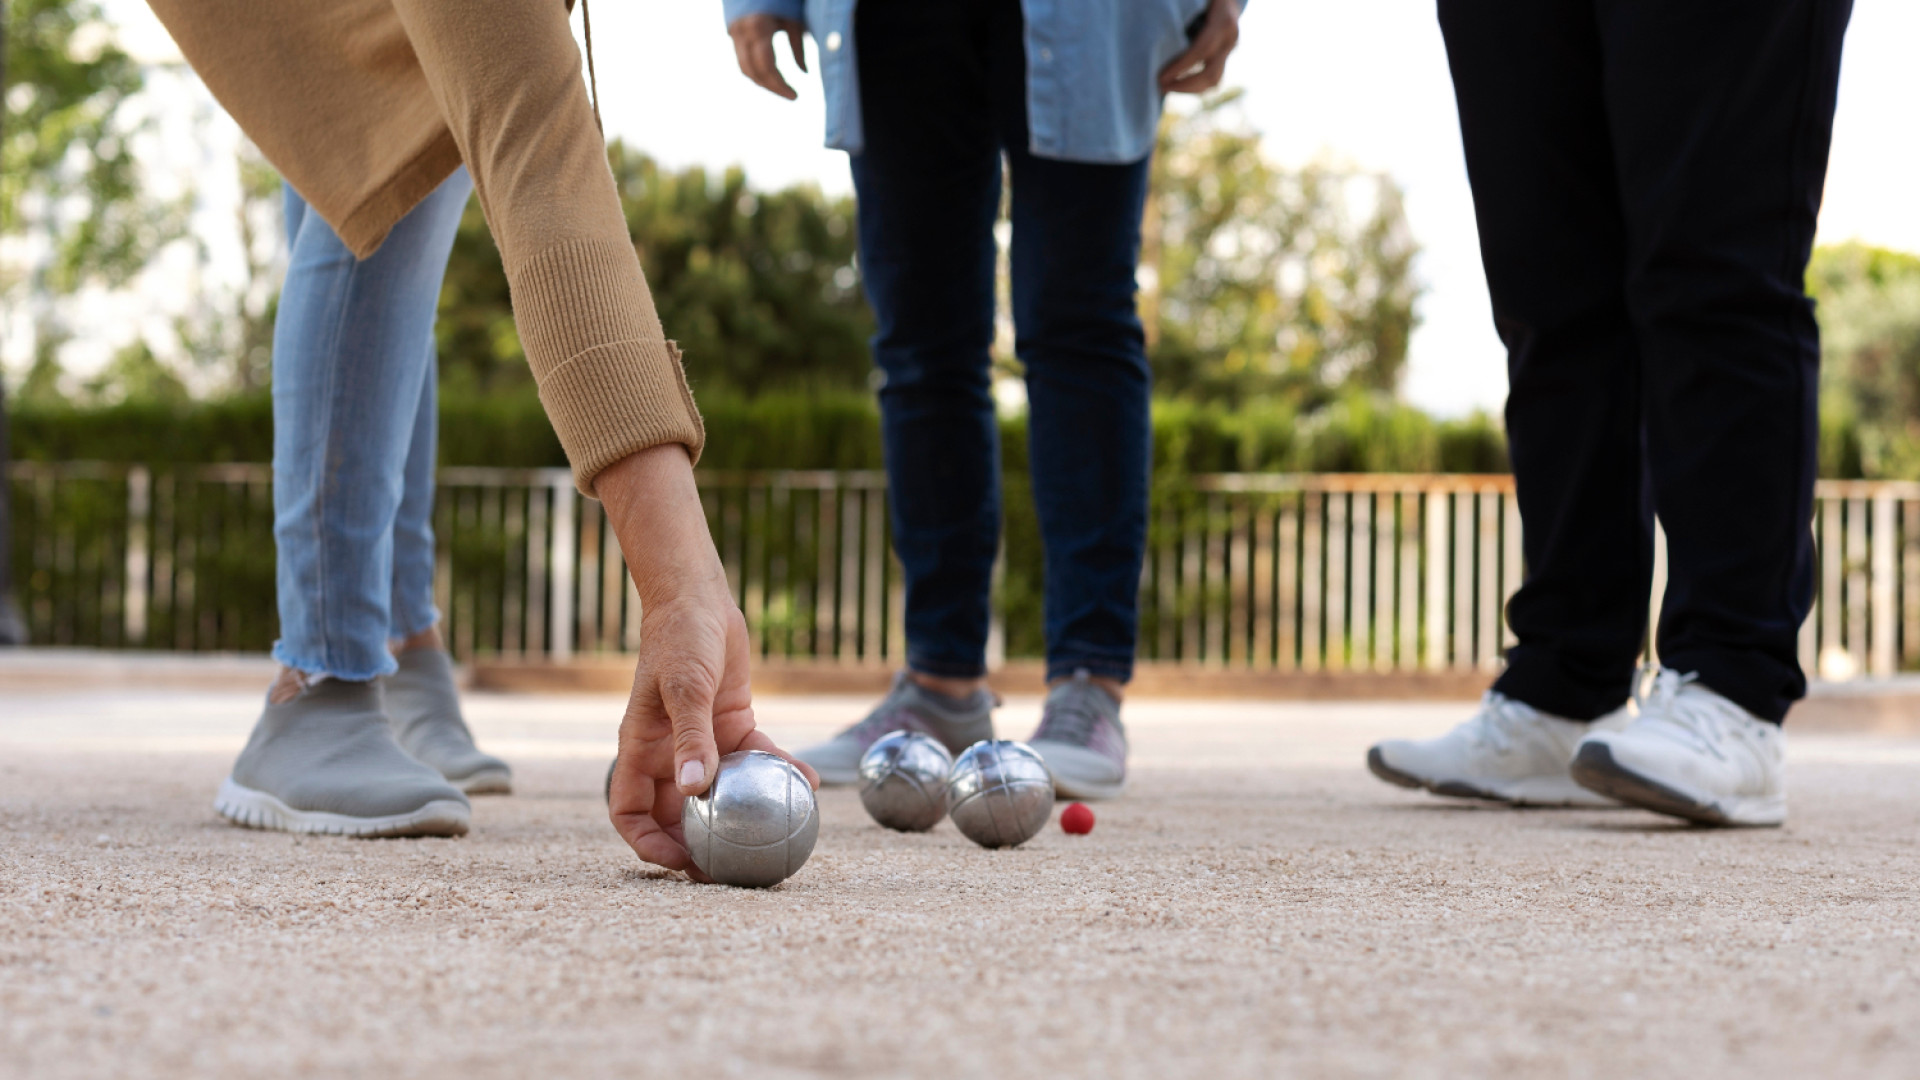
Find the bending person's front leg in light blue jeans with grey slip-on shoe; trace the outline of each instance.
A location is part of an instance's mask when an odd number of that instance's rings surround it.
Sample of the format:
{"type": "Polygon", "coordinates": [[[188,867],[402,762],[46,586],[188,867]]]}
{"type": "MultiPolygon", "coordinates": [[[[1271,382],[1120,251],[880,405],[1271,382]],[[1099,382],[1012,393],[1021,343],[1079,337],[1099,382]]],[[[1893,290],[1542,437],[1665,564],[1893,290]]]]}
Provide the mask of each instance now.
{"type": "Polygon", "coordinates": [[[417,505],[407,463],[419,436],[428,465],[432,457],[432,429],[420,432],[417,421],[440,279],[468,190],[455,173],[378,252],[355,259],[286,188],[292,258],[273,331],[273,655],[284,671],[213,801],[238,824],[467,832],[467,798],[401,748],[372,680],[396,671],[394,534],[401,505],[417,505]],[[315,684],[303,675],[332,678],[315,684]]]}

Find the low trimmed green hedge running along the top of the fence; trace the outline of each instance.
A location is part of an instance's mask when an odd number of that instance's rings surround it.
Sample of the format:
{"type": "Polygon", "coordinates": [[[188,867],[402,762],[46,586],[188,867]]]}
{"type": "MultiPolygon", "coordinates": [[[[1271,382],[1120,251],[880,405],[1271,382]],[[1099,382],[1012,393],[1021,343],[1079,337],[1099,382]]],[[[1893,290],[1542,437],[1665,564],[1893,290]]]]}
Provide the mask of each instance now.
{"type": "MultiPolygon", "coordinates": [[[[708,469],[877,469],[879,415],[868,394],[707,396],[708,469]]],[[[1006,463],[1025,467],[1025,425],[1002,425],[1006,463]]],[[[1352,398],[1311,417],[1279,407],[1154,407],[1162,473],[1501,473],[1500,425],[1475,415],[1436,421],[1411,405],[1352,398]]],[[[19,461],[269,461],[273,404],[265,396],[188,405],[125,404],[102,409],[17,407],[19,461]]],[[[540,402],[449,398],[440,407],[444,465],[564,465],[540,402]]]]}

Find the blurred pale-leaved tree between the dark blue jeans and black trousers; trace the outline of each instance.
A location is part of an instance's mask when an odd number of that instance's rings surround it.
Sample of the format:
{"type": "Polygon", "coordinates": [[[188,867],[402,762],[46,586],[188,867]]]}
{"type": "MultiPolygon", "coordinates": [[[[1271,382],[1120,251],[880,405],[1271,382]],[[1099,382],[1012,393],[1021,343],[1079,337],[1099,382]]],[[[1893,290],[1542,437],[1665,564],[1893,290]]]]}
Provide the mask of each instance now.
{"type": "Polygon", "coordinates": [[[1140,252],[1140,317],[1158,388],[1273,398],[1302,411],[1400,388],[1419,246],[1390,177],[1288,171],[1212,96],[1167,113],[1140,252]]]}

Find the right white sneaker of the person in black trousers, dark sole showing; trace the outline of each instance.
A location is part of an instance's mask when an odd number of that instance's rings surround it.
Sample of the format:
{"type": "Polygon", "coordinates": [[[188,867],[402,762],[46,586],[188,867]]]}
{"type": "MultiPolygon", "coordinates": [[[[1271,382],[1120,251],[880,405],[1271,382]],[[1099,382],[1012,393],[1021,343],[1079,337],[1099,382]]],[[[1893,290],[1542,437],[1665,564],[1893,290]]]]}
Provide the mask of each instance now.
{"type": "Polygon", "coordinates": [[[1632,726],[1580,740],[1574,780],[1699,824],[1782,824],[1786,734],[1695,678],[1663,669],[1632,726]]]}

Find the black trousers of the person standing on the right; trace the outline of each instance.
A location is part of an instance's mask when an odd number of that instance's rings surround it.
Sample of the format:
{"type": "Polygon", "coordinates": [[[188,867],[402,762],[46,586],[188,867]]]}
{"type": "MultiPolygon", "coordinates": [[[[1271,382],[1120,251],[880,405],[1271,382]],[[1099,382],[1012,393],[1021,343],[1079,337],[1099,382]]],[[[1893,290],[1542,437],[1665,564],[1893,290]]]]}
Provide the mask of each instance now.
{"type": "Polygon", "coordinates": [[[1851,0],[1440,0],[1507,346],[1524,525],[1498,690],[1594,719],[1644,642],[1780,721],[1805,694],[1811,254],[1851,0]]]}

